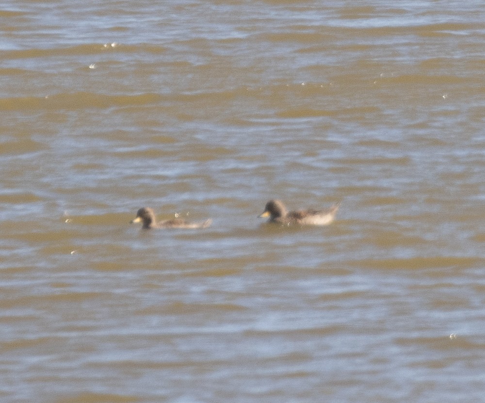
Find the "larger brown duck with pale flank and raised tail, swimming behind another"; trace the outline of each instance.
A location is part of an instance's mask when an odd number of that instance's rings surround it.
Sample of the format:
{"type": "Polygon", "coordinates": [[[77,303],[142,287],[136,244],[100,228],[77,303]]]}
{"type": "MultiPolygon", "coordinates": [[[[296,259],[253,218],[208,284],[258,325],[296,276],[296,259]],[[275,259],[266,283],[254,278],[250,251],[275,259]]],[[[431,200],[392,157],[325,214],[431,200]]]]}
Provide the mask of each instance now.
{"type": "Polygon", "coordinates": [[[266,203],[264,211],[259,217],[269,217],[268,223],[283,225],[312,225],[325,226],[335,219],[340,202],[335,203],[327,210],[295,210],[288,211],[281,200],[270,200],[266,203]]]}

